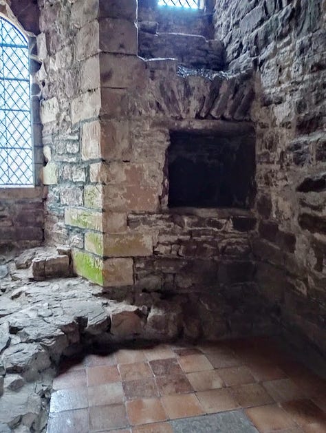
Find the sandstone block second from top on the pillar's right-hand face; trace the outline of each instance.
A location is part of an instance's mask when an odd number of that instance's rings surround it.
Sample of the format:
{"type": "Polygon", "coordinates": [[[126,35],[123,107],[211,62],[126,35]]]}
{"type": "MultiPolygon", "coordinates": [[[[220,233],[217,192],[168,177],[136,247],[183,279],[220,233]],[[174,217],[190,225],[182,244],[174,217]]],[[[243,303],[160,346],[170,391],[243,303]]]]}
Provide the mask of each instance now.
{"type": "Polygon", "coordinates": [[[126,19],[100,21],[100,50],[120,54],[138,54],[138,32],[135,23],[126,19]]]}

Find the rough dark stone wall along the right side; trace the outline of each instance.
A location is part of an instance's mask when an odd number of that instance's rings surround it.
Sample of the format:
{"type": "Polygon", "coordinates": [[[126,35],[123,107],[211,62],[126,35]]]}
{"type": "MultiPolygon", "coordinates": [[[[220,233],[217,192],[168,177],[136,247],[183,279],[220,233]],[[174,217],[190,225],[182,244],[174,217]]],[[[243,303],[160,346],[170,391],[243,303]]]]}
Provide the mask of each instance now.
{"type": "MultiPolygon", "coordinates": [[[[259,290],[325,353],[326,1],[217,0],[232,70],[255,71],[259,290]]],[[[293,332],[295,331],[295,332],[293,332]]]]}

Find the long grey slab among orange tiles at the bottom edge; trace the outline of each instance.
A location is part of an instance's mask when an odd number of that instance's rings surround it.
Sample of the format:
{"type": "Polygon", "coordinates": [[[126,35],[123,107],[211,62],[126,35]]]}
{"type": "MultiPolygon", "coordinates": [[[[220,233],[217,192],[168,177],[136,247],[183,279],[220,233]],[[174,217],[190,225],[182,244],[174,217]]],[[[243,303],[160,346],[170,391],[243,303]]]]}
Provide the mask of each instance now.
{"type": "Polygon", "coordinates": [[[242,410],[171,421],[174,433],[258,433],[242,410]]]}

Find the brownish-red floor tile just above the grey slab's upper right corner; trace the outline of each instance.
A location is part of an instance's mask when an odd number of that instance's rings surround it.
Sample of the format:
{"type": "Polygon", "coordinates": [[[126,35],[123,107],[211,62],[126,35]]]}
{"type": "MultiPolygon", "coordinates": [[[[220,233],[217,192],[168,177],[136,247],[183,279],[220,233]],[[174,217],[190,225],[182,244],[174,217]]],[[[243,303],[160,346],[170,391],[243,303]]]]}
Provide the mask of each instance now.
{"type": "Polygon", "coordinates": [[[274,400],[259,385],[259,383],[247,383],[246,385],[235,386],[232,388],[232,395],[242,408],[252,408],[274,403],[274,400]]]}

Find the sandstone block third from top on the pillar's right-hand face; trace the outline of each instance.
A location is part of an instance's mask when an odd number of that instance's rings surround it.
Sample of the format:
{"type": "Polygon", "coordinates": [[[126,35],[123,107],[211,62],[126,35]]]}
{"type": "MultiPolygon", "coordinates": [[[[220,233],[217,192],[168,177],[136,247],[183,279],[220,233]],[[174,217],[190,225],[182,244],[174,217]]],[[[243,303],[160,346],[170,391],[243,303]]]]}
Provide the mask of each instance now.
{"type": "Polygon", "coordinates": [[[144,80],[146,63],[137,56],[100,54],[100,81],[102,87],[128,88],[144,80]]]}

